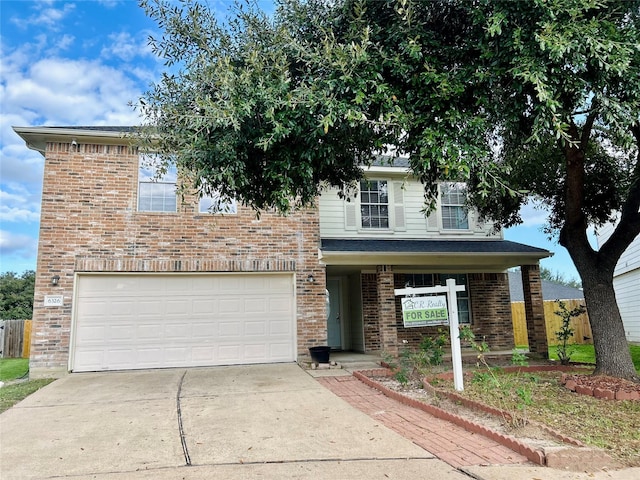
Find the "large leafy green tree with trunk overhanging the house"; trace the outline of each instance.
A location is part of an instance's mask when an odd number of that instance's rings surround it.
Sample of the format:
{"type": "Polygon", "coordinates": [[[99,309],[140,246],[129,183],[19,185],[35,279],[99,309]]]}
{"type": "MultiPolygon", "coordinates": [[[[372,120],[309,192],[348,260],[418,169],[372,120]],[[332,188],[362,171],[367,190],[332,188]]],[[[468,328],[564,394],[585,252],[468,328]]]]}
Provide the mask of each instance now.
{"type": "Polygon", "coordinates": [[[142,136],[195,188],[286,213],[386,154],[409,157],[428,208],[465,181],[510,226],[535,196],[580,274],[596,371],[637,379],[612,279],[640,233],[640,0],[281,0],[224,22],[142,5],[172,72],[142,136]],[[595,251],[587,228],[616,215],[595,251]]]}

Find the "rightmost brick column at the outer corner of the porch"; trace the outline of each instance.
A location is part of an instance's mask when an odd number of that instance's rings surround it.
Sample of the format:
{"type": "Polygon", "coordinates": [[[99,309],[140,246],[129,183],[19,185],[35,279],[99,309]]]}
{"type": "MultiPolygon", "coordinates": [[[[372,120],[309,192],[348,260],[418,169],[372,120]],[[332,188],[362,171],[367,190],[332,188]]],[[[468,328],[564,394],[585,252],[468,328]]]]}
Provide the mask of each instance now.
{"type": "Polygon", "coordinates": [[[522,289],[524,311],[527,317],[529,351],[542,358],[549,358],[547,324],[544,318],[544,299],[539,265],[522,265],[522,289]]]}

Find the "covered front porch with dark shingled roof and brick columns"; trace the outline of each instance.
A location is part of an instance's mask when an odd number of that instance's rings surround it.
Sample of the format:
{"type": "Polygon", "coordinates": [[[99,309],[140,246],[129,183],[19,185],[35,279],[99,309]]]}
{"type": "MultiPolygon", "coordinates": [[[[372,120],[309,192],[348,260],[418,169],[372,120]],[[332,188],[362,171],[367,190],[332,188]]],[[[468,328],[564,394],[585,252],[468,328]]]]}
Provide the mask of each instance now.
{"type": "Polygon", "coordinates": [[[506,270],[521,267],[530,351],[547,355],[539,260],[551,252],[505,240],[322,239],[326,265],[327,343],[334,351],[397,355],[435,327],[406,328],[394,289],[455,278],[462,323],[492,350],[514,348],[506,270]]]}

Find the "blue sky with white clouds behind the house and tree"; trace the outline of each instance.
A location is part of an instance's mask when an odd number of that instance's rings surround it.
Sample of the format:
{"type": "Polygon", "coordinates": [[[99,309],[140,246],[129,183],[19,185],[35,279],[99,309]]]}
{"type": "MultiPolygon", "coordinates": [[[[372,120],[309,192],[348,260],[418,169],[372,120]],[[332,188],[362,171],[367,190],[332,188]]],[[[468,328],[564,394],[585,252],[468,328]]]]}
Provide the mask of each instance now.
{"type": "MultiPolygon", "coordinates": [[[[208,3],[222,13],[231,0],[208,3]]],[[[136,0],[0,1],[0,272],[36,268],[44,166],[11,127],[138,124],[128,104],[163,70],[147,45],[155,28],[136,0]]],[[[524,218],[505,238],[555,252],[541,265],[578,278],[540,231],[544,213],[524,218]]]]}

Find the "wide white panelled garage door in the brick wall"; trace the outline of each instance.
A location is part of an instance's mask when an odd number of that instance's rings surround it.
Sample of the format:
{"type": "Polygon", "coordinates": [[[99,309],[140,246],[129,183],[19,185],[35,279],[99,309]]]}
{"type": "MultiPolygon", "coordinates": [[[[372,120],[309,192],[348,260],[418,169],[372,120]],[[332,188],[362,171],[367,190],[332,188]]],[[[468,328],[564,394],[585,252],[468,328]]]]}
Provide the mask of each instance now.
{"type": "Polygon", "coordinates": [[[291,274],[79,275],[76,372],[295,361],[291,274]]]}

